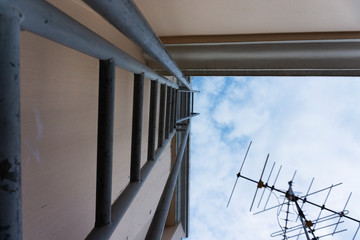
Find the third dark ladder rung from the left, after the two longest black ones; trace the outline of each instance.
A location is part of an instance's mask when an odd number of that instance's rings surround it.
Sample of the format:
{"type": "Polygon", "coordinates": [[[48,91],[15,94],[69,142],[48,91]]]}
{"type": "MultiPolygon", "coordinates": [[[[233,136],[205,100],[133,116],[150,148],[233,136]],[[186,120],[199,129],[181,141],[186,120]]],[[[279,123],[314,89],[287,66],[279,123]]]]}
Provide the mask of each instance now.
{"type": "Polygon", "coordinates": [[[155,158],[155,133],[156,133],[156,112],[158,99],[158,82],[151,81],[150,90],[150,114],[149,114],[149,136],[148,136],[148,161],[155,158]]]}

